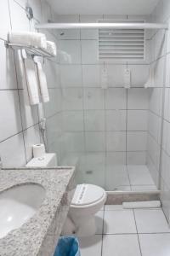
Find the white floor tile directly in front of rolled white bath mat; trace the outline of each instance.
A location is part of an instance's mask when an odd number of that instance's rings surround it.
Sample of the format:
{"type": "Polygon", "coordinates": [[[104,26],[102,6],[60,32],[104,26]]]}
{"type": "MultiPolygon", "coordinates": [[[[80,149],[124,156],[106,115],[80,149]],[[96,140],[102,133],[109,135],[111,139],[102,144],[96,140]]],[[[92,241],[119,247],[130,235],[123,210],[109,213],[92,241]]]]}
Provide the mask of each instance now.
{"type": "Polygon", "coordinates": [[[134,210],[134,213],[139,233],[170,232],[161,209],[134,210]]]}

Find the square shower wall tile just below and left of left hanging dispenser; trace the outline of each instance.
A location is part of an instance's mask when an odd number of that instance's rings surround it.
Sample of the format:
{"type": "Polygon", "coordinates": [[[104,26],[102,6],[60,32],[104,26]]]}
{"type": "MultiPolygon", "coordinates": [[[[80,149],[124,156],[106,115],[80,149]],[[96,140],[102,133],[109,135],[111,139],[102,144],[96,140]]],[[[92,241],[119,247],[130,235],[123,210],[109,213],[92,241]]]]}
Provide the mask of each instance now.
{"type": "Polygon", "coordinates": [[[98,88],[84,88],[85,109],[105,109],[105,90],[98,88]]]}

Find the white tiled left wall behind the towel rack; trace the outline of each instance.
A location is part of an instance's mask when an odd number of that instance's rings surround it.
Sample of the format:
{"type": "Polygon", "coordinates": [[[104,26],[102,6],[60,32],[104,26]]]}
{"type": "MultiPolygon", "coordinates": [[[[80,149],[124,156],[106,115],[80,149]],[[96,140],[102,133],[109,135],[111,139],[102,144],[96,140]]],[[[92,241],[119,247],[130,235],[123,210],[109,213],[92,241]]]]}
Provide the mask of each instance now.
{"type": "MultiPolygon", "coordinates": [[[[61,113],[59,67],[57,60],[45,61],[50,102],[40,105],[39,109],[37,106],[31,107],[19,56],[13,49],[4,47],[4,40],[11,29],[33,31],[36,22],[52,20],[53,14],[48,3],[43,0],[4,0],[0,2],[0,9],[0,155],[3,166],[24,166],[31,160],[31,145],[41,141],[39,122],[44,114],[47,118],[49,150],[54,149],[54,137],[57,140],[59,136],[59,125],[56,125],[60,124],[61,113]],[[34,12],[31,21],[26,17],[26,3],[34,12]]],[[[47,36],[56,40],[50,32],[47,32],[47,36]]]]}

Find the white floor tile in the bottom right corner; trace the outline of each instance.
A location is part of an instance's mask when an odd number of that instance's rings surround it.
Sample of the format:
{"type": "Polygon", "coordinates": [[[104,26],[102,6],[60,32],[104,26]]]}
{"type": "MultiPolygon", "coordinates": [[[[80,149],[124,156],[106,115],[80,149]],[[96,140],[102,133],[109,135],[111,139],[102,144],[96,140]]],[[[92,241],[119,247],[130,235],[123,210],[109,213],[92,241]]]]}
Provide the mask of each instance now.
{"type": "Polygon", "coordinates": [[[170,234],[139,235],[142,256],[169,256],[170,234]]]}

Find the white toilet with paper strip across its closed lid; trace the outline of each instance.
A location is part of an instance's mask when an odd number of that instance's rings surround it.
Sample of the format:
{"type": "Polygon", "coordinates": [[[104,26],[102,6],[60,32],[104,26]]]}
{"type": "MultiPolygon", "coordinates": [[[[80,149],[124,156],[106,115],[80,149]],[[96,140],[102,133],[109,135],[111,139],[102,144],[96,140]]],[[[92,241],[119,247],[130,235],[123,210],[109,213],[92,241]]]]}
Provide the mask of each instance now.
{"type": "MultiPolygon", "coordinates": [[[[53,167],[56,164],[56,154],[43,154],[33,158],[26,167],[53,167]]],[[[105,205],[105,201],[105,189],[94,184],[78,184],[62,235],[93,236],[96,231],[94,215],[105,205]]]]}

